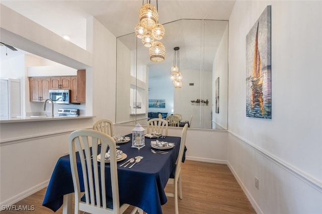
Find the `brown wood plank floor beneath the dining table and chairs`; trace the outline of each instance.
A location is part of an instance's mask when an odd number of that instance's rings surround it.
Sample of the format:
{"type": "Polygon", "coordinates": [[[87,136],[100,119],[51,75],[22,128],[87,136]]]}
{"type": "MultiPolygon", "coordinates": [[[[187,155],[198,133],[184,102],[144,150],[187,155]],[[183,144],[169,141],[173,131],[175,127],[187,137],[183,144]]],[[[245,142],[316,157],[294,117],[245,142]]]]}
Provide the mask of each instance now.
{"type": "MultiPolygon", "coordinates": [[[[180,213],[256,213],[226,165],[186,160],[182,165],[182,186],[183,199],[178,199],[180,213]]],[[[172,190],[171,187],[167,186],[166,191],[168,189],[172,190]]],[[[51,209],[41,205],[45,192],[46,188],[15,204],[17,206],[34,205],[34,210],[3,210],[0,213],[62,213],[61,207],[56,212],[53,212],[51,209]]],[[[124,213],[130,213],[130,208],[124,213]]],[[[168,197],[168,202],[162,206],[162,209],[165,214],[175,213],[174,198],[168,197]]]]}

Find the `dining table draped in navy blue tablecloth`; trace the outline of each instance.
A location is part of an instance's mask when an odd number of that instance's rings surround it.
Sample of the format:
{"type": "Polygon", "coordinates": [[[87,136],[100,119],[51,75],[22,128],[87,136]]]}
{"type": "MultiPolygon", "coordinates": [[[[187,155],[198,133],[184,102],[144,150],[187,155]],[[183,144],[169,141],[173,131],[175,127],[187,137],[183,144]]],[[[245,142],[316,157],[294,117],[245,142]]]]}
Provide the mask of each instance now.
{"type": "MultiPolygon", "coordinates": [[[[156,138],[145,137],[145,146],[138,151],[132,147],[132,134],[126,135],[130,140],[128,142],[117,143],[126,159],[118,161],[118,184],[120,204],[127,203],[136,206],[146,213],[162,213],[162,205],[167,202],[165,187],[171,175],[174,175],[176,160],[179,154],[180,137],[166,136],[159,141],[173,143],[174,147],[164,149],[166,154],[155,154],[151,152],[151,141],[156,138]],[[120,166],[132,157],[143,157],[140,162],[132,168],[120,166]]],[[[186,152],[187,148],[185,148],[186,152]]],[[[185,161],[185,152],[182,161],[185,161]]],[[[81,164],[79,155],[76,155],[77,165],[81,164]]],[[[91,160],[93,161],[93,160],[91,160]]],[[[110,177],[110,164],[105,163],[106,178],[110,177]]],[[[81,191],[84,191],[84,182],[82,173],[78,173],[81,191]]],[[[70,169],[69,155],[58,159],[44,196],[42,205],[53,211],[58,210],[63,205],[63,213],[71,213],[72,193],[74,192],[73,181],[70,169]]],[[[107,194],[111,195],[110,188],[107,187],[107,194]]]]}

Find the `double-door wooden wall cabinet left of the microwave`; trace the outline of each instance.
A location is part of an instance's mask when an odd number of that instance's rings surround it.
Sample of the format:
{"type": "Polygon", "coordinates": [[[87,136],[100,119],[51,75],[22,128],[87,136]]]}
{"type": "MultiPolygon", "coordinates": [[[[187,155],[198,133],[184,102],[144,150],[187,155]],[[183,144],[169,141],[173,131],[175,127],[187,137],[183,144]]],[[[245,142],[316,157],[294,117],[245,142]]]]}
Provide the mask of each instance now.
{"type": "Polygon", "coordinates": [[[29,77],[30,101],[43,102],[49,98],[50,77],[29,77]]]}

